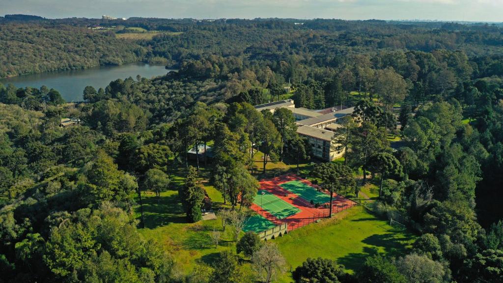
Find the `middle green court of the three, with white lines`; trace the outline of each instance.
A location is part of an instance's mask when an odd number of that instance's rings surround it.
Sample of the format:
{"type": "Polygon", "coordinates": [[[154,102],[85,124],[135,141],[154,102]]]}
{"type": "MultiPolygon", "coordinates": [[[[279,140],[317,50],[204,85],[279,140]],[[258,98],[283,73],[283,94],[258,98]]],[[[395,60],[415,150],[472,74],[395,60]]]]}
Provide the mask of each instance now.
{"type": "Polygon", "coordinates": [[[277,219],[284,219],[300,212],[299,208],[266,190],[259,190],[253,202],[277,219]]]}

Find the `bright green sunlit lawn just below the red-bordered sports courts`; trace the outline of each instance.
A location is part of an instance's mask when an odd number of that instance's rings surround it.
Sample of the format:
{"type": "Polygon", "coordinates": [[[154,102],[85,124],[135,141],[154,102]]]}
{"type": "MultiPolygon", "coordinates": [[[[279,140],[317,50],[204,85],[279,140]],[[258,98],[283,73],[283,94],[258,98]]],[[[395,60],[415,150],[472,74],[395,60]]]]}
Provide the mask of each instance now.
{"type": "MultiPolygon", "coordinates": [[[[387,221],[377,219],[362,206],[356,206],[331,220],[294,230],[274,242],[292,270],[308,257],[323,257],[336,260],[353,272],[369,255],[402,255],[414,239],[414,235],[391,227],[387,221]]],[[[282,280],[290,281],[288,276],[282,280]]]]}

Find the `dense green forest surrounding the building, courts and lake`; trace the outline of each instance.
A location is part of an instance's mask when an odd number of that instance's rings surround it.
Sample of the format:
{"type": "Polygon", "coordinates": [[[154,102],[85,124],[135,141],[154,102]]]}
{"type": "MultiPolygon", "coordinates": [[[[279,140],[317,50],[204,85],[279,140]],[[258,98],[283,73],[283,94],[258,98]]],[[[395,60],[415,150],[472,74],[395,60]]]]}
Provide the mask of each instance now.
{"type": "Polygon", "coordinates": [[[48,36],[34,40],[50,46],[82,40],[58,48],[61,60],[54,64],[50,57],[31,59],[28,48],[8,47],[12,52],[0,55],[2,62],[17,62],[9,56],[20,61],[6,74],[60,69],[56,63],[72,61],[79,52],[81,62],[97,58],[96,64],[161,57],[179,72],[152,80],[122,78],[105,89],[89,86],[80,104],[67,104],[45,87],[0,85],[0,280],[273,281],[285,272],[283,256],[274,241],[242,236],[239,220],[268,162],[311,161],[290,110],[273,114],[252,106],[286,97],[311,109],[355,106],[336,133],[344,161],[316,162],[309,176],[344,195],[358,195],[376,181],[379,196],[369,209],[400,220],[417,236],[406,254],[375,253],[351,274],[332,259],[313,256],[294,266],[290,281],[503,280],[499,27],[133,18],[122,24],[182,32],[133,42],[83,27],[117,21],[3,21],[0,44],[7,46],[19,46],[20,35],[40,32],[48,36]],[[37,60],[48,65],[33,68],[37,60]],[[293,91],[285,93],[285,86],[293,91]],[[62,117],[81,124],[61,127],[62,117]],[[390,143],[389,136],[400,141],[390,143]],[[210,143],[211,164],[189,161],[188,150],[210,143]],[[258,153],[265,157],[262,168],[253,162],[258,153]],[[211,172],[205,182],[230,206],[220,217],[224,231],[225,225],[235,229],[236,249],[182,272],[174,254],[144,239],[143,214],[134,215],[142,209],[140,192],[159,196],[180,169],[184,182],[173,201],[183,207],[187,223],[200,221],[203,167],[211,172]]]}

